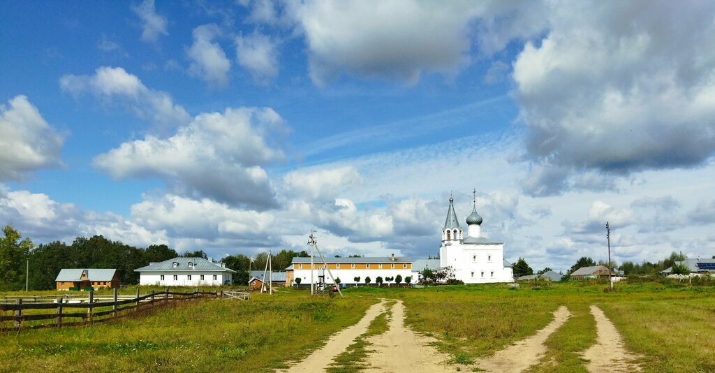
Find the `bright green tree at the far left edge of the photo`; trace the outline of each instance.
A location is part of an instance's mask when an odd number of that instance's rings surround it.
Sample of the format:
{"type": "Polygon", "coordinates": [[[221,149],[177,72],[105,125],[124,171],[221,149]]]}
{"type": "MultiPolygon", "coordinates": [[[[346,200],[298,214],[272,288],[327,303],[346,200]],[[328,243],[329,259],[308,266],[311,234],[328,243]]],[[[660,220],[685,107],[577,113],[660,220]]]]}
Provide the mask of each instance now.
{"type": "Polygon", "coordinates": [[[26,259],[34,248],[29,238],[22,236],[11,226],[3,228],[0,238],[0,290],[24,289],[26,259]]]}

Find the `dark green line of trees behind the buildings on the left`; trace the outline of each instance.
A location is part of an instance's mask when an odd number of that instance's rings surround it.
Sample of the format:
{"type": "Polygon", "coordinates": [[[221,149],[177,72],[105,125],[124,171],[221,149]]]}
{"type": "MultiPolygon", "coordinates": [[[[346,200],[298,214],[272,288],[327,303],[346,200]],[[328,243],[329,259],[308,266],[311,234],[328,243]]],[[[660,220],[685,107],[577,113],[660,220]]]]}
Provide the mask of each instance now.
{"type": "MultiPolygon", "coordinates": [[[[139,283],[139,272],[134,270],[151,262],[166,261],[177,256],[207,258],[202,250],[177,253],[166,245],[137,248],[104,236],[77,237],[71,244],[60,241],[34,246],[29,238],[11,226],[5,226],[0,237],[0,291],[25,289],[26,274],[29,289],[56,289],[55,279],[62,268],[116,268],[119,281],[124,285],[139,283]],[[27,268],[29,267],[29,272],[27,268]]],[[[309,256],[306,251],[282,250],[271,256],[274,271],[285,271],[295,256],[309,256]]],[[[263,270],[267,253],[255,258],[243,254],[222,259],[236,273],[234,284],[247,284],[250,270],[263,270]]]]}

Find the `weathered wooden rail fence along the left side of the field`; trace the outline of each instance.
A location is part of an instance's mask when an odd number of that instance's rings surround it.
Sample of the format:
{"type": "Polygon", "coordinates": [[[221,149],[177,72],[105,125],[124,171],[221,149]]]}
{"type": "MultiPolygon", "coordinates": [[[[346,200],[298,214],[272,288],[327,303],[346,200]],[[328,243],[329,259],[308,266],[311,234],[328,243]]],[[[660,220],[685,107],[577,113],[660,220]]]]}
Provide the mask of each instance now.
{"type": "MultiPolygon", "coordinates": [[[[94,291],[88,291],[89,297],[84,299],[71,298],[64,296],[56,296],[51,303],[41,303],[36,296],[23,296],[23,298],[15,299],[14,303],[0,303],[0,331],[19,331],[21,327],[49,328],[60,326],[75,326],[82,324],[91,324],[93,322],[103,322],[118,317],[129,315],[129,311],[136,313],[139,310],[152,309],[154,306],[161,304],[169,304],[170,301],[185,301],[190,299],[205,299],[205,298],[220,298],[220,299],[249,299],[247,293],[236,291],[194,291],[183,293],[177,291],[154,292],[149,294],[139,295],[137,289],[136,296],[119,296],[117,289],[114,289],[114,296],[111,299],[95,299],[94,291]],[[26,302],[24,301],[26,299],[26,302]],[[109,300],[105,300],[109,299],[109,300]],[[74,309],[87,309],[87,312],[72,312],[74,309]],[[104,309],[95,311],[96,309],[104,309]],[[54,313],[23,313],[26,310],[54,310],[54,313]],[[6,311],[14,311],[13,315],[4,315],[6,311]],[[68,322],[66,319],[81,319],[81,321],[68,322]],[[33,324],[23,326],[24,321],[42,321],[51,320],[46,324],[33,324]],[[4,322],[14,321],[14,326],[2,326],[4,322]]],[[[46,300],[46,299],[45,299],[46,300]]]]}

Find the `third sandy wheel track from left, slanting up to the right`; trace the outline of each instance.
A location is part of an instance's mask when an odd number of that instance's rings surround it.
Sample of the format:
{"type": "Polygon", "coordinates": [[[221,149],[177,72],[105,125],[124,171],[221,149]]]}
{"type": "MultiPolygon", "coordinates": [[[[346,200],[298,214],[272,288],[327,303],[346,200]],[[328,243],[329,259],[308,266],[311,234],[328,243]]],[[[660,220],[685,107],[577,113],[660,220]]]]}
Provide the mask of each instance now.
{"type": "Polygon", "coordinates": [[[553,312],[553,321],[533,336],[516,342],[510,347],[495,352],[491,357],[480,359],[475,367],[487,372],[523,372],[546,353],[543,343],[549,335],[566,322],[571,312],[565,306],[553,312]]]}

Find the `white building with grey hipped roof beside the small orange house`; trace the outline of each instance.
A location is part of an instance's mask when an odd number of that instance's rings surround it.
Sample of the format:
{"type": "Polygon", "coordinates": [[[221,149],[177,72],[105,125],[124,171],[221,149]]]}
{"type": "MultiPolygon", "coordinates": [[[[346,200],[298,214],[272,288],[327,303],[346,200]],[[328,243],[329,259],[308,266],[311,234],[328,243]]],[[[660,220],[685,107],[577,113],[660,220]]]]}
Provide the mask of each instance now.
{"type": "Polygon", "coordinates": [[[233,284],[233,273],[225,263],[204,258],[173,258],[137,268],[139,285],[219,286],[233,284]]]}

